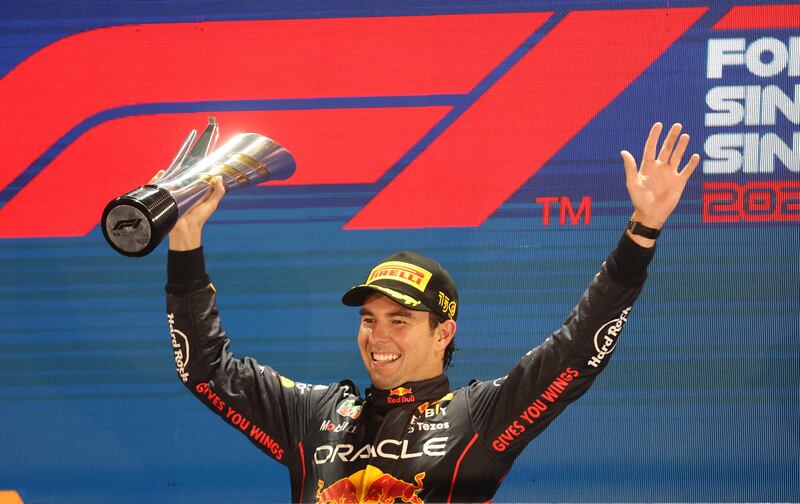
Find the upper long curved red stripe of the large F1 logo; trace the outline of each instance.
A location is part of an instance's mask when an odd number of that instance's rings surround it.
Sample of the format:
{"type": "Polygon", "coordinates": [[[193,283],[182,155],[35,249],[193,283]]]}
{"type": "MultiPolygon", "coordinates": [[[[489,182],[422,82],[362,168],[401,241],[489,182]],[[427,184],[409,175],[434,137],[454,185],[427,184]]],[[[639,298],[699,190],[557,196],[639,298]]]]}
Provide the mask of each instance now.
{"type": "Polygon", "coordinates": [[[11,118],[0,123],[0,189],[75,125],[124,105],[466,93],[541,18],[165,23],[69,36],[0,79],[0,110],[11,118]]]}

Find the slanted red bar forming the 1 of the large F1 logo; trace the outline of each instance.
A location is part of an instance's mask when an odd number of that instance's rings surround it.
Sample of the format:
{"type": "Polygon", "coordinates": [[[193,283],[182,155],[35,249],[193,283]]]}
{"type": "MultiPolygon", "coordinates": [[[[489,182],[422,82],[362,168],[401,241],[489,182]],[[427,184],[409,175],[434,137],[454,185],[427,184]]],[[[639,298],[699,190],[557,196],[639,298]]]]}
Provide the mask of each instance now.
{"type": "Polygon", "coordinates": [[[480,225],[705,11],[568,14],[345,228],[480,225]]]}

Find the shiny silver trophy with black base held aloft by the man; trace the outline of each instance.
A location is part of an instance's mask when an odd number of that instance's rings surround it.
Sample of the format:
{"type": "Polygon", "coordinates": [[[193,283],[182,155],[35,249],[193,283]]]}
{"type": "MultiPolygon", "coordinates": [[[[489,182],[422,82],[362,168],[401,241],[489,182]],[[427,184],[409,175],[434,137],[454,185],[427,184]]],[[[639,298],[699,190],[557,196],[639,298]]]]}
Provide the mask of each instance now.
{"type": "Polygon", "coordinates": [[[294,157],[265,136],[240,133],[209,154],[218,138],[217,121],[210,117],[200,138],[197,130],[189,133],[160,178],[106,205],[101,227],[114,250],[136,257],[152,252],[178,218],[208,194],[216,176],[230,191],[294,173],[294,157]]]}

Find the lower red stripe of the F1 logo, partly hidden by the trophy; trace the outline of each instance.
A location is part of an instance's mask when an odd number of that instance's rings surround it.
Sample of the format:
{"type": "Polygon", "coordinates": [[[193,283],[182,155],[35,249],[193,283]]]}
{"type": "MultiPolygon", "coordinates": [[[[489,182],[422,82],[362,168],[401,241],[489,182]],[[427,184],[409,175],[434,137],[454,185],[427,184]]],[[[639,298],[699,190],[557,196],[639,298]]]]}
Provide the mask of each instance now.
{"type": "MultiPolygon", "coordinates": [[[[269,132],[295,157],[286,184],[370,183],[419,140],[447,107],[211,114],[222,136],[269,132]]],[[[103,123],[71,144],[0,208],[0,238],[83,236],[106,203],[169,165],[183,137],[208,114],[135,116],[103,123]]]]}

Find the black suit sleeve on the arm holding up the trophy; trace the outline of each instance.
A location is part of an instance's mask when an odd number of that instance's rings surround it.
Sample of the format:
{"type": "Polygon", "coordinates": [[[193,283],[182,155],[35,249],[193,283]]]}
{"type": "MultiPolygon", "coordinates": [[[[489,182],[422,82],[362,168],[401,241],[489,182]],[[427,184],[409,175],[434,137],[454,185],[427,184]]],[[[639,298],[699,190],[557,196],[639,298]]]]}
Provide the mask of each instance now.
{"type": "Polygon", "coordinates": [[[326,387],[295,383],[252,358],[234,356],[202,249],[170,251],[167,272],[167,320],[180,380],[256,447],[289,465],[326,387]]]}

